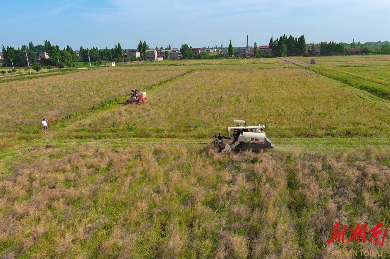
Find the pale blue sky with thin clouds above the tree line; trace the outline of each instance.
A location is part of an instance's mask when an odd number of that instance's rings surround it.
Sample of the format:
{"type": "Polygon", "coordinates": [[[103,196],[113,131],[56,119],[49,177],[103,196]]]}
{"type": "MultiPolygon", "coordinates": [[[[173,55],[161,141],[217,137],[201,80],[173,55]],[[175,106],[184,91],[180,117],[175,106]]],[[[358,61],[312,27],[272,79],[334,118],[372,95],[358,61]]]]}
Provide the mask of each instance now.
{"type": "Polygon", "coordinates": [[[390,0],[6,0],[0,44],[47,39],[62,49],[268,45],[283,34],[306,42],[390,40],[390,0]]]}

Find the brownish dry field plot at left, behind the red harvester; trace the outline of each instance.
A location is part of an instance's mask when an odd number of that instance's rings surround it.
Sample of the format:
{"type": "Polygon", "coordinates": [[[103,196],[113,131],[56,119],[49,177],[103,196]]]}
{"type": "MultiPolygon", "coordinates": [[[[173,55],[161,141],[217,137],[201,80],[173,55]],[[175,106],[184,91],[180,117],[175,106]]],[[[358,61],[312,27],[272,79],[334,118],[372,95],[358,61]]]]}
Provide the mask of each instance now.
{"type": "Polygon", "coordinates": [[[50,119],[52,124],[56,118],[60,120],[75,112],[86,114],[102,101],[126,102],[128,89],[142,89],[185,71],[101,68],[4,82],[0,86],[1,131],[29,129],[31,125],[39,125],[42,118],[50,119]]]}

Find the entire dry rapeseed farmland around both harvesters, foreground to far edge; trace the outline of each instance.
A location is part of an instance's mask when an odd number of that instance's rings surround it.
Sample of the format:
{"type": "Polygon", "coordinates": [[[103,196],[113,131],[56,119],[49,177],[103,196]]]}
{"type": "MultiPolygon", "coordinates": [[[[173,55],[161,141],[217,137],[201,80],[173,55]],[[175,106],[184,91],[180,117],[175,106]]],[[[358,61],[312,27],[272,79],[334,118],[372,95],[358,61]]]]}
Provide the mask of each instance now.
{"type": "Polygon", "coordinates": [[[389,257],[368,232],[390,226],[389,101],[281,59],[206,63],[2,82],[0,257],[389,257]],[[275,149],[203,144],[233,119],[275,149]],[[366,242],[327,244],[335,221],[366,242]]]}

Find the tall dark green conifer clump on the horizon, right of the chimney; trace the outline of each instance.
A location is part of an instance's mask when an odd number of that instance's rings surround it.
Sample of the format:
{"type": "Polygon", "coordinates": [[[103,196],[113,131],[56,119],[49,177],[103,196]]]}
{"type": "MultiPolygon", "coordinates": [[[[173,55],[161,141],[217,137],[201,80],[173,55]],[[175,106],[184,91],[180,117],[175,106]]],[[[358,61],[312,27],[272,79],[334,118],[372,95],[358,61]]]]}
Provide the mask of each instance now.
{"type": "Polygon", "coordinates": [[[292,35],[289,37],[283,35],[275,40],[271,37],[268,47],[272,50],[273,57],[303,55],[306,52],[305,36],[294,38],[292,35]]]}

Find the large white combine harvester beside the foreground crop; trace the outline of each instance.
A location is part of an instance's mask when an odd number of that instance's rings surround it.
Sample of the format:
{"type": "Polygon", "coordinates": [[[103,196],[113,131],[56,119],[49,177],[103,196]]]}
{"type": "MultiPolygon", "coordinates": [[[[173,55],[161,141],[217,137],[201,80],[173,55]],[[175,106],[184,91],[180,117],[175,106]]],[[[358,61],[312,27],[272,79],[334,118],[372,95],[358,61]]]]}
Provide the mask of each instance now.
{"type": "Polygon", "coordinates": [[[237,123],[243,123],[244,126],[228,127],[228,135],[223,136],[219,133],[213,140],[214,146],[219,152],[231,152],[232,150],[252,150],[258,152],[275,146],[264,132],[265,125],[247,126],[243,120],[234,120],[237,123]],[[233,130],[233,134],[231,134],[233,130]]]}

